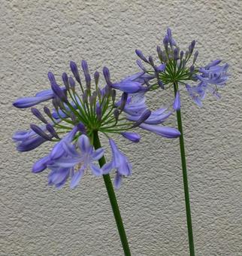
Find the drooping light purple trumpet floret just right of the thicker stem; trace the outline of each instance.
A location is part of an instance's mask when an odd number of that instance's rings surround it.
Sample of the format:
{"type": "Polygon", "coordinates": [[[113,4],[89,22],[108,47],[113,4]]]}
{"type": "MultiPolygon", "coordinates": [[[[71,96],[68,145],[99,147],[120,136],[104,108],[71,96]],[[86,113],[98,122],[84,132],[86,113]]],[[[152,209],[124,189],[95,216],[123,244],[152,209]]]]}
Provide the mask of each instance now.
{"type": "Polygon", "coordinates": [[[116,169],[114,187],[118,189],[120,187],[122,177],[132,174],[132,166],[129,163],[128,158],[121,151],[119,151],[119,148],[116,146],[113,139],[109,139],[109,144],[113,157],[110,163],[105,163],[101,169],[104,175],[109,173],[111,169],[116,169]]]}

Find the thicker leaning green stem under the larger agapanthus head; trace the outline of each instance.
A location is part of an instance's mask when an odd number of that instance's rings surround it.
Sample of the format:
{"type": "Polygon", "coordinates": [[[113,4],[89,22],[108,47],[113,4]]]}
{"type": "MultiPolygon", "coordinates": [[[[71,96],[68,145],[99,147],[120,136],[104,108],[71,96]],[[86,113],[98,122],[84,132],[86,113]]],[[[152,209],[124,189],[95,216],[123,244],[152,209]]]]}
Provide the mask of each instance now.
{"type": "MultiPolygon", "coordinates": [[[[98,132],[93,133],[93,145],[94,145],[95,149],[101,148],[101,143],[100,143],[100,140],[99,140],[99,137],[98,137],[98,132]]],[[[105,158],[101,157],[101,159],[99,160],[100,167],[103,166],[104,163],[106,163],[105,158]]],[[[111,204],[112,209],[113,209],[113,215],[114,215],[114,218],[115,218],[115,221],[116,221],[116,227],[119,230],[119,236],[120,236],[120,240],[121,240],[122,245],[123,245],[124,254],[126,256],[131,256],[131,253],[130,253],[130,250],[129,250],[129,243],[128,243],[128,240],[127,240],[127,237],[126,237],[126,230],[123,227],[123,221],[122,221],[122,218],[121,218],[121,215],[120,215],[120,212],[119,212],[119,206],[118,206],[118,203],[116,201],[116,196],[115,196],[115,193],[114,193],[114,190],[113,190],[113,184],[112,184],[112,181],[110,179],[110,175],[109,174],[103,175],[103,178],[104,178],[105,186],[107,188],[107,194],[108,194],[108,197],[109,197],[109,200],[110,200],[110,204],[111,204]]]]}

